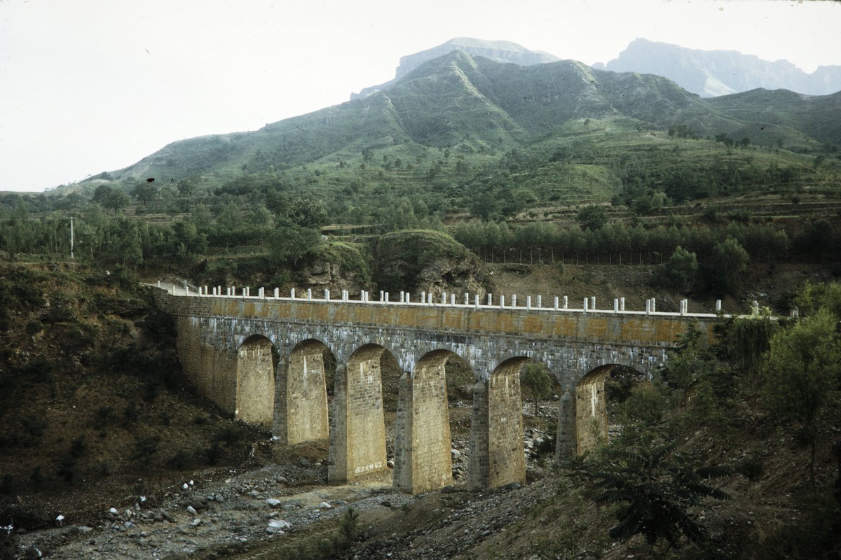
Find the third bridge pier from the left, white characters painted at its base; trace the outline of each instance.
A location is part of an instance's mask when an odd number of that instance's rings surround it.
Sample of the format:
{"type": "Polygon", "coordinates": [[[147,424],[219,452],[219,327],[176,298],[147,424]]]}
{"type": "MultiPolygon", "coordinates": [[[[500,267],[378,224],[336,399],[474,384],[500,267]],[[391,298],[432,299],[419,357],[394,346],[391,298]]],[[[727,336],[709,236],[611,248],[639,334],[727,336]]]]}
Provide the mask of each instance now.
{"type": "Polygon", "coordinates": [[[383,374],[389,354],[378,344],[364,344],[336,368],[330,466],[327,479],[343,483],[387,470],[383,374]]]}

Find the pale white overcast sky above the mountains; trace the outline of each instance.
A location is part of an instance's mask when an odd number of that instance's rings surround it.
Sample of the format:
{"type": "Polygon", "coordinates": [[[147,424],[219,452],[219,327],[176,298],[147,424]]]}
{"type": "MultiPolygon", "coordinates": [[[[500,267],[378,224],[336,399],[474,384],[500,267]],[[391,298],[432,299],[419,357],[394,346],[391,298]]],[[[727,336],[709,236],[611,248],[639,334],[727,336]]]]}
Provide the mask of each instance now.
{"type": "Polygon", "coordinates": [[[394,77],[454,37],[586,64],[637,37],[841,65],[841,3],[783,0],[0,0],[0,191],[256,130],[394,77]]]}

